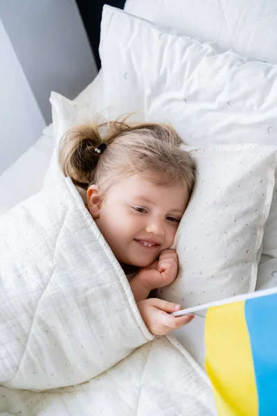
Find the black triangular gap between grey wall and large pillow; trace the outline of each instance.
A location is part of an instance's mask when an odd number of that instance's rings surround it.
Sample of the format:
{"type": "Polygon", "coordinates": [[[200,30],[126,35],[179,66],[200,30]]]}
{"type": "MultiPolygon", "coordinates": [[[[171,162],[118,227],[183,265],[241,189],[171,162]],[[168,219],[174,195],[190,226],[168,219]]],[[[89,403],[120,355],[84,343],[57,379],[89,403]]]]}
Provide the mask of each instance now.
{"type": "Polygon", "coordinates": [[[80,15],[84,23],[84,28],[87,31],[87,37],[93,51],[96,65],[100,69],[100,58],[98,53],[100,41],[100,22],[102,17],[102,8],[104,4],[114,6],[117,8],[124,8],[125,0],[76,0],[77,6],[80,10],[80,15]]]}

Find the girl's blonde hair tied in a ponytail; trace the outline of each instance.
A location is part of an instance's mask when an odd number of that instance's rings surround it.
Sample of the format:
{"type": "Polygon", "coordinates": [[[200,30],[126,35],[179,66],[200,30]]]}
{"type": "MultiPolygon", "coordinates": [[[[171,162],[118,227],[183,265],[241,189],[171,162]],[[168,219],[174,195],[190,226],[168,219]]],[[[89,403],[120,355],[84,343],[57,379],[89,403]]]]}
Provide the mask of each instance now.
{"type": "Polygon", "coordinates": [[[179,148],[181,139],[177,132],[166,124],[128,125],[126,119],[85,123],[66,132],[60,144],[64,175],[84,189],[98,184],[103,193],[134,173],[158,184],[181,180],[191,192],[195,162],[179,148]],[[96,149],[102,143],[107,148],[100,154],[96,149]]]}

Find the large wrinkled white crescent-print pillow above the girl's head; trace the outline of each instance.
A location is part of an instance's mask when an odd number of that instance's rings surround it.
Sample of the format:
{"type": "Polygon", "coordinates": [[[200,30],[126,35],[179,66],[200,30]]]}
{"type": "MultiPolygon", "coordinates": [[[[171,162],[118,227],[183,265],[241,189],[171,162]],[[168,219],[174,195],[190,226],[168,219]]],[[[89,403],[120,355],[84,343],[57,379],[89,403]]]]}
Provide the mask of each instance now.
{"type": "MultiPolygon", "coordinates": [[[[109,6],[103,11],[100,54],[103,101],[113,114],[136,111],[143,119],[169,121],[190,146],[276,146],[277,66],[244,60],[233,51],[217,53],[214,45],[109,6]]],[[[261,287],[277,270],[274,207],[263,245],[276,261],[260,268],[261,287]]]]}

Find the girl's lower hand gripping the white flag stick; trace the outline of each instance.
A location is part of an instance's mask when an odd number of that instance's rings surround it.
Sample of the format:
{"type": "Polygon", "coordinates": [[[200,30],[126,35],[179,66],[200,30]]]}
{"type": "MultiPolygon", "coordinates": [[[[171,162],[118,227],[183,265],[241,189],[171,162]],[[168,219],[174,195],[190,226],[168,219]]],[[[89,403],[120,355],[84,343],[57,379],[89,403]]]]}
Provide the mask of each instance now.
{"type": "Polygon", "coordinates": [[[146,327],[154,335],[166,335],[172,329],[183,327],[194,318],[191,313],[185,316],[170,315],[172,312],[179,311],[181,306],[175,307],[175,304],[166,300],[150,298],[141,300],[137,305],[146,327]]]}

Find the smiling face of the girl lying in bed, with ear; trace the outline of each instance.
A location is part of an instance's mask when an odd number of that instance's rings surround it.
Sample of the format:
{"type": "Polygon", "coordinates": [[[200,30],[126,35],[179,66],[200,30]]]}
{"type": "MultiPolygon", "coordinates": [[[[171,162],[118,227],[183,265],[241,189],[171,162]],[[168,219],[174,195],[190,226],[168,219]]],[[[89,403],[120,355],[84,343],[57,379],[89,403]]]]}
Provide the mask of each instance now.
{"type": "Polygon", "coordinates": [[[149,266],[172,246],[189,199],[181,182],[157,185],[140,175],[113,185],[103,197],[92,185],[87,197],[89,211],[116,259],[139,267],[149,266]]]}

